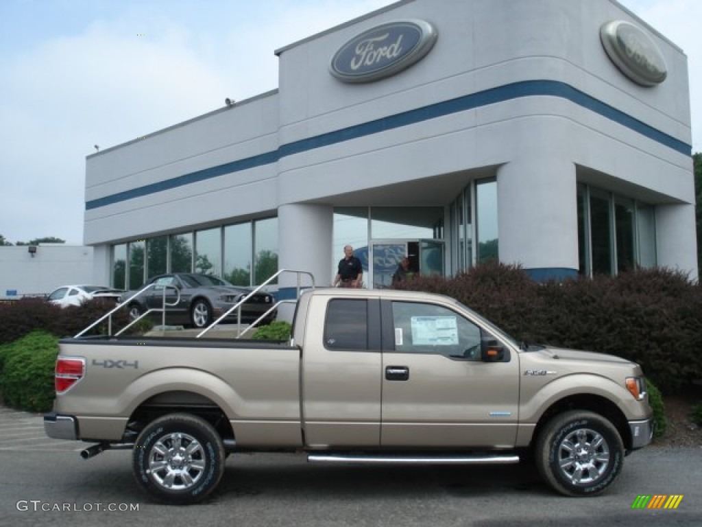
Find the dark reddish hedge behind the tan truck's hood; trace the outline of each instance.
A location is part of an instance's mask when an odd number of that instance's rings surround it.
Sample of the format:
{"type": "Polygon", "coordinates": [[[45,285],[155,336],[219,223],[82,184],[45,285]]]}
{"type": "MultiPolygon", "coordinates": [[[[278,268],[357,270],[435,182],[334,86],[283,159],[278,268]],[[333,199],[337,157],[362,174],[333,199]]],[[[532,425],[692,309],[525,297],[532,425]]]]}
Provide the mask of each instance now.
{"type": "Polygon", "coordinates": [[[633,360],[663,393],[702,379],[702,287],[677,271],[540,283],[517,266],[489,263],[403,287],[456,298],[519,341],[633,360]]]}

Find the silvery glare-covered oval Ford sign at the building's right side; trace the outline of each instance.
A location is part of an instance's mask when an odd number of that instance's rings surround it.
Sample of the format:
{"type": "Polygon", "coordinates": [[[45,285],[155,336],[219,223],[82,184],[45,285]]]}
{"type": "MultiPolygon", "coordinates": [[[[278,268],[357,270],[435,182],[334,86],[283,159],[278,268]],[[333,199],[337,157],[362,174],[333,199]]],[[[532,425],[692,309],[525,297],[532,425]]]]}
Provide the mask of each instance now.
{"type": "Polygon", "coordinates": [[[631,22],[607,22],[600,28],[600,39],[611,61],[637,84],[661,84],[668,75],[661,51],[643,30],[631,22]]]}

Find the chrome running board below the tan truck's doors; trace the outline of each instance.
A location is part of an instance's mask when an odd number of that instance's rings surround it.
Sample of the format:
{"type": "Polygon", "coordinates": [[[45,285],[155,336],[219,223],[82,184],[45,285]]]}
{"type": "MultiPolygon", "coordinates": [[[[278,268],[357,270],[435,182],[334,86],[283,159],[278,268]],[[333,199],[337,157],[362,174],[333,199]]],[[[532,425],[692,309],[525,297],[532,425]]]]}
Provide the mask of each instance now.
{"type": "Polygon", "coordinates": [[[311,463],[354,463],[354,464],[513,464],[519,463],[518,455],[345,455],[308,454],[311,463]]]}

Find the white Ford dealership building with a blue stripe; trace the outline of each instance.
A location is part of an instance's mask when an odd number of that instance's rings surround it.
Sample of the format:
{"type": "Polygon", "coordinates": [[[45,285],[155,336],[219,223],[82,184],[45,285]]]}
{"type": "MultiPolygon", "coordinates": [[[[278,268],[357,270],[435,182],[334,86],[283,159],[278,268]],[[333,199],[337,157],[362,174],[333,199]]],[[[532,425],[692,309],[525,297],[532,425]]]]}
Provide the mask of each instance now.
{"type": "Polygon", "coordinates": [[[687,57],[618,2],[403,0],[274,53],[278,89],[87,157],[95,280],[329,285],[347,244],[373,288],[697,277],[687,57]]]}

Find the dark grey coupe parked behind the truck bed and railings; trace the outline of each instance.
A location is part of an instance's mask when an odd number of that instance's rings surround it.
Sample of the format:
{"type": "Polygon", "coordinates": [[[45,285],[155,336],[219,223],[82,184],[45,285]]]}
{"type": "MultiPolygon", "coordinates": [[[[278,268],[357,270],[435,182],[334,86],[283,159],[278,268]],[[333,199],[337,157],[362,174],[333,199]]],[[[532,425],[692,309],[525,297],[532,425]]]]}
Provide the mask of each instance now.
{"type": "MultiPolygon", "coordinates": [[[[151,308],[161,308],[166,304],[166,323],[206,327],[219,318],[229,308],[251,293],[249,287],[239,287],[226,280],[211,275],[197,273],[168,273],[154,276],[145,285],[135,291],[126,292],[121,301],[128,301],[129,314],[132,318],[151,308]],[[152,285],[145,292],[128,300],[140,289],[152,285]],[[176,291],[177,289],[177,291],[176,291]],[[178,295],[180,294],[180,300],[178,295]]],[[[257,292],[241,306],[241,322],[252,323],[263,315],[275,303],[271,294],[257,292]]],[[[227,317],[227,321],[237,321],[237,311],[227,317]]],[[[275,320],[276,311],[272,311],[261,322],[267,324],[275,320]]],[[[162,320],[161,311],[150,314],[153,320],[162,320]]]]}

